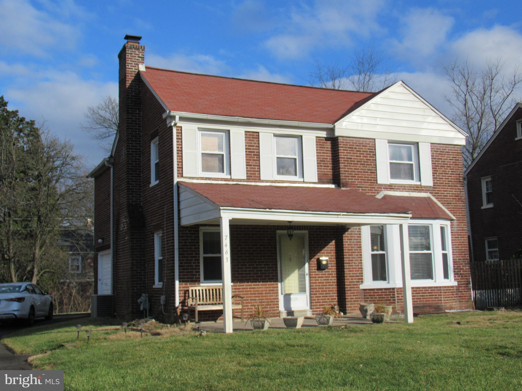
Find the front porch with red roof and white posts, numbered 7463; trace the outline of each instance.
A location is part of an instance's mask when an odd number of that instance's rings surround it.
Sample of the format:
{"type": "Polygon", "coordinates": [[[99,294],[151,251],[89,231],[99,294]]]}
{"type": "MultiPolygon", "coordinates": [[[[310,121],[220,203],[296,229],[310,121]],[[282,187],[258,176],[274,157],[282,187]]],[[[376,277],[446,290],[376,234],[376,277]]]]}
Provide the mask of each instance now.
{"type": "MultiPolygon", "coordinates": [[[[344,274],[345,269],[351,273],[350,268],[357,267],[358,262],[351,258],[352,248],[343,242],[343,233],[350,228],[396,224],[400,227],[401,247],[408,248],[407,208],[360,191],[198,182],[180,182],[179,189],[180,230],[193,243],[198,237],[194,247],[200,249],[199,273],[194,273],[194,268],[188,273],[184,270],[186,264],[180,264],[180,296],[191,288],[190,283],[219,283],[222,328],[226,333],[250,327],[233,322],[233,295],[243,296],[251,307],[269,302],[270,317],[281,326],[279,317],[291,312],[303,311],[310,316],[334,303],[342,308],[341,300],[348,295],[350,300],[357,300],[346,291],[350,276],[344,274]],[[287,233],[289,222],[294,227],[293,235],[287,233]],[[322,258],[330,258],[329,272],[321,270],[322,258]],[[217,267],[219,260],[219,269],[206,266],[208,262],[217,267]],[[339,265],[343,274],[336,271],[339,265]],[[184,279],[185,275],[195,274],[197,280],[184,279]]],[[[186,247],[189,243],[185,236],[183,241],[186,247]]],[[[408,251],[401,253],[405,321],[411,323],[409,256],[408,251]]],[[[181,298],[182,308],[186,300],[186,295],[181,298]]],[[[250,312],[245,311],[246,317],[250,312]]],[[[212,327],[216,328],[216,324],[212,327]]]]}

